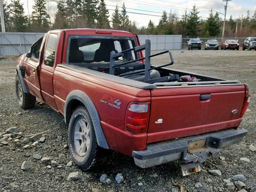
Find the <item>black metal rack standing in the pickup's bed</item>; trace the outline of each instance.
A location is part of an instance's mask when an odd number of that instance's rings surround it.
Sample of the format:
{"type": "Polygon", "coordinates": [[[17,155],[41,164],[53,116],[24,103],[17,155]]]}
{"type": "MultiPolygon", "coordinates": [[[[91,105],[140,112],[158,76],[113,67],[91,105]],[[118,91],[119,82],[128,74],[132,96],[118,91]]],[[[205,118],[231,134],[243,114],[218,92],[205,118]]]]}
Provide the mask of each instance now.
{"type": "MultiPolygon", "coordinates": [[[[133,72],[133,73],[131,72],[130,74],[145,72],[145,78],[144,78],[143,82],[150,83],[150,84],[158,83],[158,82],[168,82],[168,81],[179,80],[179,76],[175,75],[175,74],[170,75],[170,76],[156,78],[156,79],[151,79],[150,78],[150,71],[151,70],[153,70],[153,69],[156,70],[156,69],[159,69],[161,67],[166,67],[166,66],[172,65],[174,63],[173,58],[172,58],[172,53],[170,51],[164,51],[164,52],[160,52],[160,53],[150,55],[150,50],[151,50],[150,40],[146,39],[144,45],[140,45],[140,46],[130,48],[130,49],[127,49],[127,50],[124,50],[124,51],[121,51],[121,52],[117,52],[117,53],[115,51],[112,51],[110,53],[110,66],[109,66],[109,68],[105,68],[102,71],[105,71],[105,70],[109,69],[109,74],[114,75],[115,67],[119,67],[119,66],[122,66],[122,65],[138,62],[138,61],[141,61],[141,60],[145,60],[145,69],[136,70],[136,72],[133,72]],[[142,50],[145,50],[145,57],[135,59],[135,60],[130,60],[128,62],[124,62],[124,63],[121,63],[121,64],[115,64],[115,59],[124,56],[125,52],[134,51],[134,55],[137,55],[137,53],[142,51],[142,50]],[[161,65],[161,66],[151,68],[150,58],[152,58],[154,56],[162,55],[162,54],[165,54],[165,53],[169,53],[171,62],[168,63],[168,64],[164,64],[164,65],[161,65]]],[[[120,75],[120,76],[122,77],[122,75],[120,75]]]]}

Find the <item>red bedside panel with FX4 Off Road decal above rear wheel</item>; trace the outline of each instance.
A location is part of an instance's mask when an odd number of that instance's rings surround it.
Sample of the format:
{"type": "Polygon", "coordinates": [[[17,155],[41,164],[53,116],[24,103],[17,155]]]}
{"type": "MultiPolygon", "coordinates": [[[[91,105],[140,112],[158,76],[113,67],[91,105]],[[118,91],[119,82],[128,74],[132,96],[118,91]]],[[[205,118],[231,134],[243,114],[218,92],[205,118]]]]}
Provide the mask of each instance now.
{"type": "Polygon", "coordinates": [[[126,108],[130,102],[150,102],[150,91],[118,84],[88,74],[56,67],[54,72],[54,99],[60,113],[64,114],[67,95],[72,90],[81,90],[92,100],[104,136],[110,149],[131,155],[133,150],[145,150],[147,134],[130,134],[125,130],[126,108]],[[120,108],[111,106],[120,100],[120,108]]]}

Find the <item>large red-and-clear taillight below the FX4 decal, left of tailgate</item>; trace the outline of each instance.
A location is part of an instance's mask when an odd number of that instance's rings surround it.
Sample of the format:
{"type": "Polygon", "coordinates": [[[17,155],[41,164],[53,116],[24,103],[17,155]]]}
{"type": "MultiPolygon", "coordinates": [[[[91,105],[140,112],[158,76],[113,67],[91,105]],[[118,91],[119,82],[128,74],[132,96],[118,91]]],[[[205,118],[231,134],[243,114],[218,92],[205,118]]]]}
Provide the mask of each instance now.
{"type": "Polygon", "coordinates": [[[132,102],[126,110],[126,130],[133,134],[144,133],[148,129],[150,103],[132,102]]]}

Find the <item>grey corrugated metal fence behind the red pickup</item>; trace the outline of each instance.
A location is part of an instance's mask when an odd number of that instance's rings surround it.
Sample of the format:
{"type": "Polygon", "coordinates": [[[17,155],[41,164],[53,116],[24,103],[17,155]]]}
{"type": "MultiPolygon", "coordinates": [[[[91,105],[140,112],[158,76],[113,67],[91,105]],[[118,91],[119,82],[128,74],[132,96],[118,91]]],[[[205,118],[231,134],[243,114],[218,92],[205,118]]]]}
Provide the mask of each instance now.
{"type": "MultiPolygon", "coordinates": [[[[1,33],[0,57],[12,57],[27,53],[30,46],[45,33],[1,33]]],[[[138,35],[141,44],[151,40],[151,50],[181,49],[182,35],[138,35]]]]}

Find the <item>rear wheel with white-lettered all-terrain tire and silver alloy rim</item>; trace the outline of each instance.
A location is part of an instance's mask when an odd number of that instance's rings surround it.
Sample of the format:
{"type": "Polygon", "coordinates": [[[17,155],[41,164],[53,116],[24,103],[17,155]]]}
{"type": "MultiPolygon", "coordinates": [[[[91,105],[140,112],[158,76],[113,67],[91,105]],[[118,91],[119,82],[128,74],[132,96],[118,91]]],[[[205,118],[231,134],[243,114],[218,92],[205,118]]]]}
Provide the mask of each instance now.
{"type": "Polygon", "coordinates": [[[78,168],[88,170],[95,164],[99,147],[92,119],[85,106],[78,106],[70,118],[68,145],[71,157],[78,168]]]}

